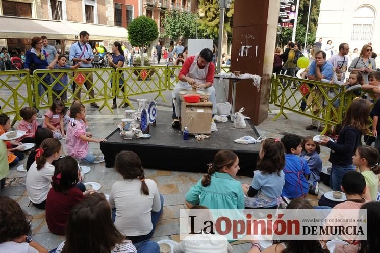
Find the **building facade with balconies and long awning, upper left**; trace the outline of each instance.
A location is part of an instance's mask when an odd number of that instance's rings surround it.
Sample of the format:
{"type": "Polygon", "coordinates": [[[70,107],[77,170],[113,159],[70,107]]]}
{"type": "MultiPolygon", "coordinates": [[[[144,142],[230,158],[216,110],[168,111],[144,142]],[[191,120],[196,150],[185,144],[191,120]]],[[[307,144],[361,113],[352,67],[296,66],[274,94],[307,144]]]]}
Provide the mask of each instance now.
{"type": "Polygon", "coordinates": [[[64,52],[82,30],[93,46],[126,41],[127,35],[115,27],[113,0],[0,0],[0,22],[0,45],[21,50],[30,48],[34,36],[47,36],[64,52]]]}

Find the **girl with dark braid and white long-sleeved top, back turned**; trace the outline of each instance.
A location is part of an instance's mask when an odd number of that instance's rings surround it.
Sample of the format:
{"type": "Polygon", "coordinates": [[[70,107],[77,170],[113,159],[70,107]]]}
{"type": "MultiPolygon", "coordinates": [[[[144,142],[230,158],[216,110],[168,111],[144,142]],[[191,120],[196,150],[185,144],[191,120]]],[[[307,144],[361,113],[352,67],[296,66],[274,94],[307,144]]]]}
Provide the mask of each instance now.
{"type": "Polygon", "coordinates": [[[163,212],[164,198],[157,184],[145,179],[140,158],[132,151],[121,151],[115,158],[115,169],[123,177],[111,188],[109,202],[116,228],[126,239],[138,243],[149,239],[163,212]]]}

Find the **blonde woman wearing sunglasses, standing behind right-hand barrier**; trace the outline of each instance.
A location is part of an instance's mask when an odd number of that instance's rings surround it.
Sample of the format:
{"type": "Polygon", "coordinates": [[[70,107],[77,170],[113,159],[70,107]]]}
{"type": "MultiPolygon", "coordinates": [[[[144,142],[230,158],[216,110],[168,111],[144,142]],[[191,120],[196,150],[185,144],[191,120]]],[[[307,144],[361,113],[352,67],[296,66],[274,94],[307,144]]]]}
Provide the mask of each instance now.
{"type": "Polygon", "coordinates": [[[368,83],[368,74],[376,71],[376,62],[372,57],[372,46],[365,44],[359,54],[351,62],[348,72],[359,71],[363,74],[364,83],[368,83]]]}

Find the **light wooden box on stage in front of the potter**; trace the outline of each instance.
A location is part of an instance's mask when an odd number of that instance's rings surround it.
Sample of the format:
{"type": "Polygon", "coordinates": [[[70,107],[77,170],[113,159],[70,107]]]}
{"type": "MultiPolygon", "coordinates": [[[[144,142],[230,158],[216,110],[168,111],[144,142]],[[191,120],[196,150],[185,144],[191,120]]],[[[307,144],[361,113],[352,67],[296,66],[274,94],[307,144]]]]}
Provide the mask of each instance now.
{"type": "Polygon", "coordinates": [[[198,102],[181,105],[181,128],[185,126],[189,134],[211,134],[212,103],[198,102]]]}

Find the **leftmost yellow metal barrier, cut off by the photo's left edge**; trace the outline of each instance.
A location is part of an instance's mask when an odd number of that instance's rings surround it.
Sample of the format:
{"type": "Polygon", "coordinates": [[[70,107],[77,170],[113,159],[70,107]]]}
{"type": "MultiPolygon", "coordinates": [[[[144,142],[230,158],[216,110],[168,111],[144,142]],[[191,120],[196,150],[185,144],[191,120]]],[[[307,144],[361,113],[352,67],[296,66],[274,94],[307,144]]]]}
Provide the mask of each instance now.
{"type": "Polygon", "coordinates": [[[31,79],[26,70],[0,71],[0,113],[15,115],[12,125],[21,120],[22,107],[33,106],[31,79]]]}

